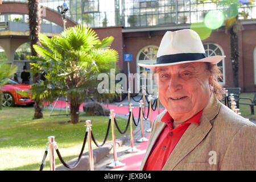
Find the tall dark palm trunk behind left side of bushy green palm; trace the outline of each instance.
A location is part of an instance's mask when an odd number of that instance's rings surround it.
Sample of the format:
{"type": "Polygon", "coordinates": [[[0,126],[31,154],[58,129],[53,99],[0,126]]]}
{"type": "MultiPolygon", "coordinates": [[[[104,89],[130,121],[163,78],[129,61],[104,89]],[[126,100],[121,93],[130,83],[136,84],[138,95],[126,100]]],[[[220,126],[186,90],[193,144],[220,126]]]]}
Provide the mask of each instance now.
{"type": "MultiPolygon", "coordinates": [[[[38,56],[38,53],[33,48],[33,45],[36,44],[40,46],[39,41],[39,33],[41,26],[41,8],[40,8],[40,0],[28,0],[28,19],[29,19],[29,27],[30,27],[30,45],[31,45],[31,55],[38,56]]],[[[40,73],[36,72],[33,77],[33,82],[40,82],[40,73]]],[[[35,114],[34,119],[43,118],[42,113],[42,103],[40,100],[35,100],[35,114]]]]}

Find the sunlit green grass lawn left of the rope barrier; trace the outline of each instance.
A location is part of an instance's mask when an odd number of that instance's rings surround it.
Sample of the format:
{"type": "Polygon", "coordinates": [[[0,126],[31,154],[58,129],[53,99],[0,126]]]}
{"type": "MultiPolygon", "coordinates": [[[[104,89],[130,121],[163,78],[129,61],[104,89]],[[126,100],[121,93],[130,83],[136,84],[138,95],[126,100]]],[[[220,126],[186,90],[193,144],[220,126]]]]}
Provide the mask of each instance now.
{"type": "MultiPolygon", "coordinates": [[[[15,106],[0,110],[0,170],[39,170],[40,163],[49,136],[55,136],[55,141],[65,162],[79,156],[85,135],[85,121],[92,121],[94,138],[99,144],[105,138],[109,117],[88,117],[80,113],[81,122],[73,125],[69,123],[70,116],[51,116],[50,110],[44,110],[44,118],[33,120],[33,107],[15,106]]],[[[64,114],[63,111],[62,114],[64,114]]],[[[53,112],[59,114],[59,111],[53,112]]],[[[117,118],[118,125],[125,129],[127,120],[117,118]]],[[[129,131],[126,132],[126,134],[129,131]]],[[[115,130],[116,137],[121,134],[115,130]]],[[[112,140],[111,129],[108,141],[112,140]]],[[[107,141],[107,142],[108,142],[107,141]]],[[[84,152],[88,151],[86,142],[84,152]]],[[[93,148],[96,148],[92,142],[93,148]]],[[[55,153],[56,154],[56,153],[55,153]]],[[[56,167],[61,162],[56,155],[56,167]]],[[[47,155],[44,170],[49,170],[49,155],[47,155]]]]}

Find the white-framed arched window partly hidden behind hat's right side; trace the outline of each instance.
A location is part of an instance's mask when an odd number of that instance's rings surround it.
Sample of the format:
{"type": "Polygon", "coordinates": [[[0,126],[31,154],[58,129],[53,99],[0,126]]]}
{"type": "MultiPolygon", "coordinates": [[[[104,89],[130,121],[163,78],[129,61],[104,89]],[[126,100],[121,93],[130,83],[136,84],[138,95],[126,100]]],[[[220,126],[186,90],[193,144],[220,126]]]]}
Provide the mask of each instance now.
{"type": "MultiPolygon", "coordinates": [[[[208,56],[224,56],[224,51],[218,44],[215,43],[204,43],[205,53],[208,56]]],[[[221,85],[225,85],[225,59],[220,61],[217,66],[221,69],[222,72],[222,81],[220,80],[221,85]]]]}

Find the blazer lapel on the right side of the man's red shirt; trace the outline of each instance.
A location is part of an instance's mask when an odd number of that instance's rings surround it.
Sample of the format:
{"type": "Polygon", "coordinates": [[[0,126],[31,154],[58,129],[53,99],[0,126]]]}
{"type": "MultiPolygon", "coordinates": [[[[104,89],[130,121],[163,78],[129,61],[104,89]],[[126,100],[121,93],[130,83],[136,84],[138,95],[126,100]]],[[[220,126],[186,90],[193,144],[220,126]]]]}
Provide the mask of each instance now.
{"type": "Polygon", "coordinates": [[[218,102],[217,98],[212,94],[207,107],[205,107],[201,115],[199,126],[197,126],[196,123],[189,125],[162,170],[174,169],[174,167],[205,138],[212,128],[210,120],[216,117],[219,109],[220,102],[218,102]]]}

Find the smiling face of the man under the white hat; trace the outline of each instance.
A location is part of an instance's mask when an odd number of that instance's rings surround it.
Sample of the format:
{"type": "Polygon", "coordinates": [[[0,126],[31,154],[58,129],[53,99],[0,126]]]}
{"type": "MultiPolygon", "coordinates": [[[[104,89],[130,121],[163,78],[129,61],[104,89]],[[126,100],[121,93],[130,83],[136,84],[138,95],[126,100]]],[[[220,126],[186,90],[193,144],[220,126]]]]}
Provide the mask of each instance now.
{"type": "Polygon", "coordinates": [[[158,67],[159,99],[176,121],[184,122],[208,104],[210,73],[205,63],[158,67]]]}

